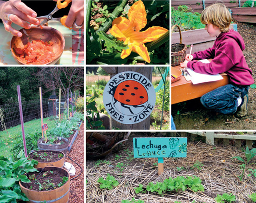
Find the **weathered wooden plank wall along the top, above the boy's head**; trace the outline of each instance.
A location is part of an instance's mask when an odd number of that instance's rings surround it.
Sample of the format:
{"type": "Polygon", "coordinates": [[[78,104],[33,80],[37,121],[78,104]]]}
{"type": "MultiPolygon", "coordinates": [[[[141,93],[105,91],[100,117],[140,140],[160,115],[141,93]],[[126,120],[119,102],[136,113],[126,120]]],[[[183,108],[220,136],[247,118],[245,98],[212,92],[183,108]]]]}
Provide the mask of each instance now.
{"type": "MultiPolygon", "coordinates": [[[[238,7],[238,0],[236,0],[236,1],[205,0],[204,2],[205,2],[205,7],[215,4],[215,3],[220,3],[220,2],[224,3],[225,6],[227,6],[229,9],[238,7]],[[232,2],[234,2],[234,3],[232,3],[232,2]]],[[[246,2],[246,0],[241,1],[241,6],[243,6],[244,2],[246,2]]],[[[187,0],[187,1],[174,0],[174,1],[171,1],[171,6],[174,7],[174,9],[177,9],[179,5],[186,5],[190,8],[192,8],[192,10],[194,12],[202,13],[202,11],[203,11],[203,1],[200,1],[200,0],[192,0],[192,1],[190,1],[190,0],[187,0]]]]}

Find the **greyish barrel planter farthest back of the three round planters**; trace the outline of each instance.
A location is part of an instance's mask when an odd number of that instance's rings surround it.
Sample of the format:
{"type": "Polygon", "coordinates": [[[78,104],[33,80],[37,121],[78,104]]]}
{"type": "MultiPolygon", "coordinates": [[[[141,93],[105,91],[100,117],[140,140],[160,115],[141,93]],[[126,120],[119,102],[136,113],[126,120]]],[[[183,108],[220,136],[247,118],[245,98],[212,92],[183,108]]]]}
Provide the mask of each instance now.
{"type": "MultiPolygon", "coordinates": [[[[50,139],[50,137],[48,138],[50,139]]],[[[59,137],[59,141],[63,142],[61,144],[49,144],[45,143],[45,138],[41,138],[37,140],[37,147],[39,150],[55,150],[55,151],[62,151],[63,153],[67,153],[68,151],[68,139],[59,137]]]]}

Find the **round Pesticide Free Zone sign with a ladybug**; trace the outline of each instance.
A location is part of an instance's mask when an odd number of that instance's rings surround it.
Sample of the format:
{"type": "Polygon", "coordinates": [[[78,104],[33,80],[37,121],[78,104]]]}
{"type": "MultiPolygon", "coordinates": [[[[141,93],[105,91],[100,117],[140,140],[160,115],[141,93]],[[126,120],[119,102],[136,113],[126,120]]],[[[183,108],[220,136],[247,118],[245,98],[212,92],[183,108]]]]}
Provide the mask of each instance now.
{"type": "Polygon", "coordinates": [[[119,123],[139,123],[153,111],[155,89],[140,73],[118,73],[105,86],[103,103],[107,113],[119,123]]]}

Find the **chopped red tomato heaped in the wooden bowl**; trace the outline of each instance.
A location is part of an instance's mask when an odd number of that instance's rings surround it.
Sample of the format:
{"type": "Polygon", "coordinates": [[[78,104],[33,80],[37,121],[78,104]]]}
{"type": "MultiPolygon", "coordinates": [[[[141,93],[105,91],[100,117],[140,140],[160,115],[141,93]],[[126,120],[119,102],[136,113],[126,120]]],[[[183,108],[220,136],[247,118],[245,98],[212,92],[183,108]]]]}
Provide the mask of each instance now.
{"type": "Polygon", "coordinates": [[[15,52],[20,55],[20,59],[25,64],[46,64],[55,58],[52,45],[51,41],[44,42],[38,39],[32,43],[28,42],[23,50],[16,48],[15,52]]]}

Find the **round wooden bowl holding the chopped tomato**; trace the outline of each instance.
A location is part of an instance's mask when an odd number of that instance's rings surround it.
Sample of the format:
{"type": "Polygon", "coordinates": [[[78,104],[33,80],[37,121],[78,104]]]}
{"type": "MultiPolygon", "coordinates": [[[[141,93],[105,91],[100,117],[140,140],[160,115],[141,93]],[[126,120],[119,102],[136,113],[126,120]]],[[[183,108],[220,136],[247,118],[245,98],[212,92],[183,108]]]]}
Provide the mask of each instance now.
{"type": "Polygon", "coordinates": [[[24,45],[26,45],[28,42],[32,42],[33,40],[42,39],[44,42],[52,41],[53,42],[53,52],[56,54],[55,58],[50,61],[48,64],[55,64],[61,57],[61,54],[63,53],[64,47],[65,47],[65,39],[61,32],[58,30],[48,27],[48,26],[42,26],[43,29],[39,27],[32,27],[31,29],[26,30],[25,28],[22,28],[19,30],[22,32],[22,37],[16,37],[13,36],[11,39],[11,53],[13,54],[13,58],[19,63],[24,64],[20,57],[15,53],[15,48],[24,48],[24,45]]]}

